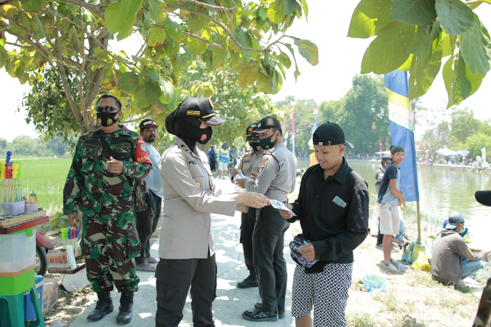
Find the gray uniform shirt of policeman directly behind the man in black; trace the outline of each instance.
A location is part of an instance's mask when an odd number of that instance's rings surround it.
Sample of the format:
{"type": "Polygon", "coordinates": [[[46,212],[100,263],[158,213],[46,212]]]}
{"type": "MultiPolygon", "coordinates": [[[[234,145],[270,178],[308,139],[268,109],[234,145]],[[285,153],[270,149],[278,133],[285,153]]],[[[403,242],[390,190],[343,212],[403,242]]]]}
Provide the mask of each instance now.
{"type": "Polygon", "coordinates": [[[297,158],[282,142],[263,153],[259,175],[255,180],[246,181],[246,190],[285,202],[288,199],[287,194],[295,190],[297,158]]]}

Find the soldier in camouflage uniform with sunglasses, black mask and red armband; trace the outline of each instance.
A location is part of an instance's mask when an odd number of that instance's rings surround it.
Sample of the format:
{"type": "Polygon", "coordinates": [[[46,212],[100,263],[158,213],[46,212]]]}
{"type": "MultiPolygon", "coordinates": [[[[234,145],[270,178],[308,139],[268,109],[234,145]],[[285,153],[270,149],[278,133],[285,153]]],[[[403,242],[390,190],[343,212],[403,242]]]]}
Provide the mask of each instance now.
{"type": "Polygon", "coordinates": [[[97,102],[101,128],[83,134],[75,148],[63,190],[63,212],[74,227],[82,212],[82,254],[87,279],[98,302],[88,321],[113,310],[110,291],[121,292],[118,324],[132,318],[133,295],[139,278],[131,261],[140,250],[135,227],[133,184],[144,178],[151,162],[141,136],[116,124],[121,103],[111,95],[97,102]]]}

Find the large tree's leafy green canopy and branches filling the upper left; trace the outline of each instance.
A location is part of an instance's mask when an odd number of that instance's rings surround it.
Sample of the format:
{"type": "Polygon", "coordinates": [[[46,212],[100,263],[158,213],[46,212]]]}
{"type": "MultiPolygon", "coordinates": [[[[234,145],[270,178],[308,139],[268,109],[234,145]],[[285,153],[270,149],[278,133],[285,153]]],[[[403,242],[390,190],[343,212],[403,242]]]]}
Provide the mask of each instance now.
{"type": "MultiPolygon", "coordinates": [[[[92,107],[102,92],[120,98],[125,119],[164,116],[181,95],[213,95],[216,88],[199,79],[182,82],[196,62],[236,75],[235,87],[248,92],[277,93],[297,61],[295,47],[318,63],[314,43],[285,34],[307,12],[305,0],[9,1],[0,6],[0,67],[31,84],[43,84],[51,69],[64,92],[54,98],[78,126],[65,132],[84,132],[96,127],[92,107]],[[112,51],[114,38],[129,36],[139,41],[131,55],[112,51]]],[[[29,115],[41,124],[40,113],[29,115]]],[[[55,131],[51,122],[41,130],[55,131]]]]}

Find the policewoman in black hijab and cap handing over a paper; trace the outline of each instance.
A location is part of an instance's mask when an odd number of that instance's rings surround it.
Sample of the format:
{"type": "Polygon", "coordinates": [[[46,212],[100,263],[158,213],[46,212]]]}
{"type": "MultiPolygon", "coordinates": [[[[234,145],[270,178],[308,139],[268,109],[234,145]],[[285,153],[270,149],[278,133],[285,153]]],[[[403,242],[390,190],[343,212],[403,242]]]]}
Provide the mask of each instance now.
{"type": "Polygon", "coordinates": [[[174,142],[162,154],[160,175],[164,188],[164,214],[157,265],[158,327],[177,327],[191,287],[193,326],[215,326],[212,304],[216,297],[217,265],[211,214],[234,216],[246,205],[269,205],[263,194],[227,194],[213,180],[208,156],[196,142],[206,144],[212,126],[225,122],[208,98],[191,97],[165,119],[174,142]]]}

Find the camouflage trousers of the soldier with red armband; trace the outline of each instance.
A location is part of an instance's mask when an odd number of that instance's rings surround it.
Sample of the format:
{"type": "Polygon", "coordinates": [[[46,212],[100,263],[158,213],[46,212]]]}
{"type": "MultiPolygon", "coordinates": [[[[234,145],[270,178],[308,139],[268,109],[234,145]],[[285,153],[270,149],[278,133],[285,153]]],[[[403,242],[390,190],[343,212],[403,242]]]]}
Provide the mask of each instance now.
{"type": "Polygon", "coordinates": [[[99,215],[83,216],[82,249],[87,279],[95,292],[136,291],[140,279],[132,258],[140,251],[133,209],[102,207],[99,215]]]}

